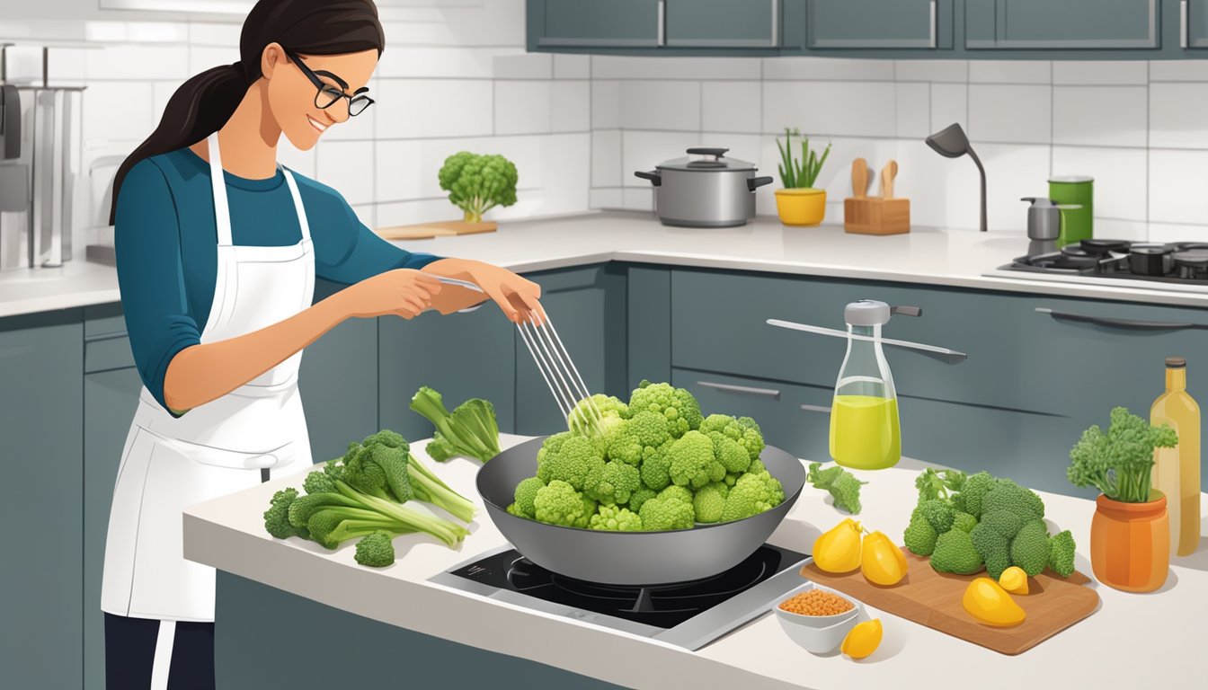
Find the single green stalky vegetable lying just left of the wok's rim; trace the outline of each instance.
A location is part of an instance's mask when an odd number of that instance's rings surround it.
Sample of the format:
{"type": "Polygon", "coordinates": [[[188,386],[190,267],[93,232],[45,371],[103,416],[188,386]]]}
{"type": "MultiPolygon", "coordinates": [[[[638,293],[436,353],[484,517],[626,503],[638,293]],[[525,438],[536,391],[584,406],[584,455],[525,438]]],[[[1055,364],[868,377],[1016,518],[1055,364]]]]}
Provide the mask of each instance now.
{"type": "Polygon", "coordinates": [[[434,460],[465,456],[487,462],[499,454],[499,422],[489,400],[471,398],[449,412],[441,394],[424,385],[411,408],[432,423],[432,442],[424,450],[434,460]]]}

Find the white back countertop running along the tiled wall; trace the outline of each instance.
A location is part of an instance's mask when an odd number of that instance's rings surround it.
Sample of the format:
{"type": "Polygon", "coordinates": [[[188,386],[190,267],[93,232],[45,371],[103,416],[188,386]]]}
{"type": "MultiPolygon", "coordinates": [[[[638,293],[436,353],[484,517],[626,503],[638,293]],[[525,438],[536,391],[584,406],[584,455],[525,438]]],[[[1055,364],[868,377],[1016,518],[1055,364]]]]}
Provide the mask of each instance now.
{"type": "MultiPolygon", "coordinates": [[[[667,227],[647,213],[606,211],[505,221],[498,232],[396,244],[517,272],[617,260],[1208,307],[1208,289],[1202,288],[986,276],[1027,253],[1027,236],[1014,231],[914,227],[907,234],[875,237],[846,233],[842,225],[789,227],[762,216],[743,227],[705,230],[667,227]]],[[[0,272],[0,317],[120,300],[116,271],[99,263],[0,272]]]]}

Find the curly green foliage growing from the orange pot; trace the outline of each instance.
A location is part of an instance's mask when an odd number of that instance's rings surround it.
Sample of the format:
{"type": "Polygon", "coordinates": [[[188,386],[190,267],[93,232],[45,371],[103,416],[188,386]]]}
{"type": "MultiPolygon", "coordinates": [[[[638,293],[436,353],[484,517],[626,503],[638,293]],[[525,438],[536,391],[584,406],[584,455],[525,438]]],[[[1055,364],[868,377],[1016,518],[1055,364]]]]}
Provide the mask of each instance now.
{"type": "Polygon", "coordinates": [[[1173,448],[1178,442],[1169,425],[1154,427],[1127,407],[1116,407],[1105,434],[1098,424],[1082,433],[1069,452],[1065,475],[1071,485],[1093,486],[1111,500],[1146,503],[1154,448],[1173,448]]]}

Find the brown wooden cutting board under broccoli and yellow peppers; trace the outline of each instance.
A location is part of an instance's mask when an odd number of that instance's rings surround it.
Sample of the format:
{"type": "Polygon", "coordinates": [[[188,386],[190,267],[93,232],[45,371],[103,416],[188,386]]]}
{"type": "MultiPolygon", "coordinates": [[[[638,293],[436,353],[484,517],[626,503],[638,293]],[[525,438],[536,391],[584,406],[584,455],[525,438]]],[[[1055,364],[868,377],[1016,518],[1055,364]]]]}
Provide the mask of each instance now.
{"type": "Polygon", "coordinates": [[[1085,586],[1091,581],[1086,575],[1075,572],[1064,579],[1045,570],[1028,578],[1030,593],[1011,595],[1027,614],[1022,624],[1015,627],[983,625],[965,611],[960,601],[969,582],[986,576],[985,570],[978,575],[936,573],[928,558],[902,551],[906,578],[893,587],[873,585],[859,570],[847,575],[824,573],[813,562],[802,568],[801,574],[870,607],[1009,655],[1040,644],[1099,608],[1099,595],[1085,586]]]}

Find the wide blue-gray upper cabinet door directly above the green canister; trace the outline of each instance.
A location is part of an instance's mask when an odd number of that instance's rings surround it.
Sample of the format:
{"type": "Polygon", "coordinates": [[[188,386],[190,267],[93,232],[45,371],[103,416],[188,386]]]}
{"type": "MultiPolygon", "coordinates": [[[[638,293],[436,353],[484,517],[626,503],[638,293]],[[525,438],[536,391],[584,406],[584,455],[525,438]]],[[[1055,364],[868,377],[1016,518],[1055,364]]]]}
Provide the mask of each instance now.
{"type": "Polygon", "coordinates": [[[965,0],[970,50],[1161,46],[1158,0],[965,0]]]}

